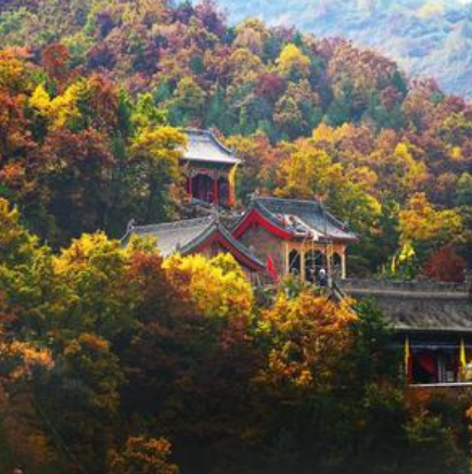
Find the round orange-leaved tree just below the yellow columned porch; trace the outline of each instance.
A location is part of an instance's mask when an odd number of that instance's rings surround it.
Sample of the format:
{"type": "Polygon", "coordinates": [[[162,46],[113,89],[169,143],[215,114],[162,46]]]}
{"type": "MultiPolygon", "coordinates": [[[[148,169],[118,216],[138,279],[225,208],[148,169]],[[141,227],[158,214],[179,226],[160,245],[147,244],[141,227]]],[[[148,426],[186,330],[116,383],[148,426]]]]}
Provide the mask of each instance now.
{"type": "Polygon", "coordinates": [[[356,320],[347,300],[337,304],[309,290],[294,298],[279,294],[259,323],[271,346],[257,382],[282,397],[299,389],[329,390],[336,385],[342,357],[354,342],[356,320]]]}

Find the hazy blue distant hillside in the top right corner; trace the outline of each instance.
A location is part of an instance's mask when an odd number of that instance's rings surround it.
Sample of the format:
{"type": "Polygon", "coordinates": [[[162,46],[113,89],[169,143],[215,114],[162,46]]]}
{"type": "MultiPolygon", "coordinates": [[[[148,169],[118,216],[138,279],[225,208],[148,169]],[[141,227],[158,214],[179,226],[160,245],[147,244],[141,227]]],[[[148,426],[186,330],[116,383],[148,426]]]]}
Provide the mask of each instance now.
{"type": "Polygon", "coordinates": [[[218,0],[232,23],[257,16],[321,37],[349,38],[399,62],[412,76],[435,77],[444,90],[472,97],[469,0],[218,0]]]}

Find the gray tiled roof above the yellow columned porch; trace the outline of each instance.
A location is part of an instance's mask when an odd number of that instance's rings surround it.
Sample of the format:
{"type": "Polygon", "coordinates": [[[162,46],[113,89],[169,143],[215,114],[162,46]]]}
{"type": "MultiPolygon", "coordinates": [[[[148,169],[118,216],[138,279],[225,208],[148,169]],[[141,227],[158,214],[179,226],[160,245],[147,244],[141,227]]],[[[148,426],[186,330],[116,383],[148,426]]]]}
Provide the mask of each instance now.
{"type": "Polygon", "coordinates": [[[257,196],[253,203],[276,225],[301,236],[315,231],[321,239],[328,234],[332,240],[357,241],[356,234],[330,213],[324,213],[318,201],[257,196]]]}

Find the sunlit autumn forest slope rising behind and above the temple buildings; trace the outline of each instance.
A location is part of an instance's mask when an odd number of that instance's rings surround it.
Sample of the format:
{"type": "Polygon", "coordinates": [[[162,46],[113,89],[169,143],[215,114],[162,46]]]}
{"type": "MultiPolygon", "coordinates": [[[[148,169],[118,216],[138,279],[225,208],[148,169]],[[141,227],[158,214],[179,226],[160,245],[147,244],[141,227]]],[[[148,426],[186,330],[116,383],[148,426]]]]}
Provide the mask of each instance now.
{"type": "Polygon", "coordinates": [[[176,216],[177,126],[246,161],[242,201],[323,197],[362,236],[355,271],[469,242],[472,108],[372,51],[228,27],[211,3],[12,1],[1,18],[1,193],[54,245],[176,216]]]}

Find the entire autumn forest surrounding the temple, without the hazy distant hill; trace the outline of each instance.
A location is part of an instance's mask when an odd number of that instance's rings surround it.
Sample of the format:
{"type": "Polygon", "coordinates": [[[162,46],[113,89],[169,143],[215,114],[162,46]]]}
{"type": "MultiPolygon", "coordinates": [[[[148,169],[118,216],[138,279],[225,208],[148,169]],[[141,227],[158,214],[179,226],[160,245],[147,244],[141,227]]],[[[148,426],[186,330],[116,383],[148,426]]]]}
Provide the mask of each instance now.
{"type": "Polygon", "coordinates": [[[179,217],[181,127],[208,127],[240,206],[316,195],[353,272],[460,281],[464,100],[207,2],[3,1],[0,44],[0,472],[467,472],[470,395],[410,399],[372,304],[112,240],[179,217]]]}

